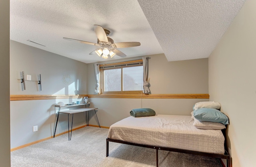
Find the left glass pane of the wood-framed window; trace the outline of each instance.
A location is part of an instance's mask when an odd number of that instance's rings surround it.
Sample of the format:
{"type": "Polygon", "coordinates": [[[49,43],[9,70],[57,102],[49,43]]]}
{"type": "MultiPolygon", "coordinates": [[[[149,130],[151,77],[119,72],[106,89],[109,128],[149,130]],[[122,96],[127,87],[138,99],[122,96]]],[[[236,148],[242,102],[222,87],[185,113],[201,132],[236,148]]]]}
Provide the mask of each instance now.
{"type": "Polygon", "coordinates": [[[121,69],[104,70],[104,91],[121,91],[121,69]]]}

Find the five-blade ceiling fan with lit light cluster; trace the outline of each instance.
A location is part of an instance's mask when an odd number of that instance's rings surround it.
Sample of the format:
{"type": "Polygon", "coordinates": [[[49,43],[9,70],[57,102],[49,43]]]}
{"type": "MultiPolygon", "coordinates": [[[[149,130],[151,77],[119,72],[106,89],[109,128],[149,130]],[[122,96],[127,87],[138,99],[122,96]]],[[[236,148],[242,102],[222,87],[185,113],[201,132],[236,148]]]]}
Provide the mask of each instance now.
{"type": "MultiPolygon", "coordinates": [[[[89,45],[95,45],[99,46],[100,48],[94,50],[96,54],[99,57],[103,57],[104,59],[107,59],[108,57],[112,58],[114,55],[118,55],[120,57],[126,57],[124,53],[119,51],[116,48],[124,48],[124,47],[136,47],[140,46],[140,42],[120,42],[120,43],[114,43],[114,40],[111,39],[110,37],[107,37],[110,34],[110,31],[108,29],[103,29],[102,26],[99,25],[94,25],[94,31],[97,36],[97,43],[92,43],[92,42],[87,42],[87,41],[81,41],[78,39],[71,39],[71,38],[66,38],[63,37],[63,39],[67,39],[70,41],[78,41],[80,43],[85,43],[89,45]]],[[[89,53],[92,55],[94,53],[92,51],[89,53]]]]}

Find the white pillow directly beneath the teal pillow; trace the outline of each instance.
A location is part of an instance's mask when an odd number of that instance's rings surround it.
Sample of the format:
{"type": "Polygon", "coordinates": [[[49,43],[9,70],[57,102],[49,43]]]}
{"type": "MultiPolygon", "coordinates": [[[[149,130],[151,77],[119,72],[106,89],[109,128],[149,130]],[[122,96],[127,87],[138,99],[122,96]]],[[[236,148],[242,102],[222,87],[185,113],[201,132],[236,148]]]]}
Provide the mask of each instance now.
{"type": "Polygon", "coordinates": [[[219,122],[207,122],[207,121],[198,121],[194,118],[194,124],[198,129],[205,129],[205,130],[222,130],[225,129],[226,126],[219,122]]]}

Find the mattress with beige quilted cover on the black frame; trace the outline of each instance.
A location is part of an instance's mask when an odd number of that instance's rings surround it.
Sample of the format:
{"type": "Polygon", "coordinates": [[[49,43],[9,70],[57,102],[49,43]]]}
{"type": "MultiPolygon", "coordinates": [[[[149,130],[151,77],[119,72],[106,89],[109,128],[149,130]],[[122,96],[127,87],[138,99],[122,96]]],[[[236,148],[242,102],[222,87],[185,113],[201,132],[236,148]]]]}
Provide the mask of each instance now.
{"type": "Polygon", "coordinates": [[[108,138],[122,141],[224,154],[221,130],[193,126],[191,116],[156,115],[124,118],[110,126],[108,138]]]}

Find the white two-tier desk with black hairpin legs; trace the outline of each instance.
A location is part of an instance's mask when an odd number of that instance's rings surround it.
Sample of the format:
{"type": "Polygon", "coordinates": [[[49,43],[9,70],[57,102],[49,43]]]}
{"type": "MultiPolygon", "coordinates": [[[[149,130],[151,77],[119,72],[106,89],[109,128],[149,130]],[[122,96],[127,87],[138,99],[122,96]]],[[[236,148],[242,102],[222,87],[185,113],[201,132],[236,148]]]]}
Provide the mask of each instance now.
{"type": "Polygon", "coordinates": [[[72,136],[72,126],[73,126],[73,117],[74,117],[74,114],[76,113],[79,113],[79,112],[86,112],[86,124],[87,126],[89,126],[89,111],[92,111],[94,110],[95,112],[95,115],[96,115],[96,118],[97,118],[97,121],[98,121],[98,124],[100,126],[100,122],[98,120],[98,117],[97,117],[97,114],[96,114],[96,109],[98,108],[90,108],[90,102],[88,103],[83,103],[83,104],[75,104],[75,105],[64,105],[64,106],[59,106],[59,105],[55,105],[55,107],[58,108],[58,116],[57,116],[57,120],[56,120],[56,126],[55,126],[55,130],[54,130],[54,135],[53,137],[55,137],[55,133],[56,133],[56,128],[57,128],[57,124],[58,124],[58,119],[59,119],[59,115],[60,113],[64,113],[64,114],[68,114],[68,140],[71,140],[71,136],[72,136]],[[60,111],[61,108],[71,108],[71,107],[75,107],[75,106],[82,106],[84,105],[85,108],[77,108],[77,109],[74,109],[74,110],[64,110],[64,111],[60,111]],[[88,105],[88,108],[86,108],[86,105],[88,105]],[[87,112],[88,112],[88,118],[87,118],[87,112]],[[70,137],[69,137],[69,114],[72,114],[72,124],[71,124],[71,133],[70,133],[70,137]]]}

